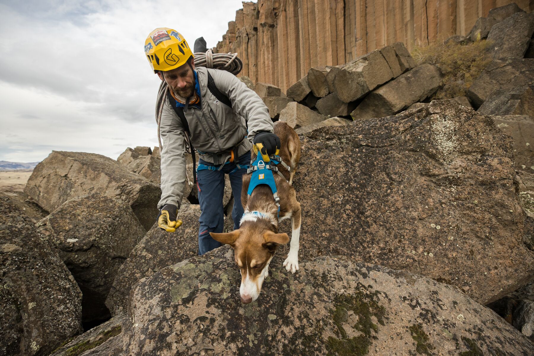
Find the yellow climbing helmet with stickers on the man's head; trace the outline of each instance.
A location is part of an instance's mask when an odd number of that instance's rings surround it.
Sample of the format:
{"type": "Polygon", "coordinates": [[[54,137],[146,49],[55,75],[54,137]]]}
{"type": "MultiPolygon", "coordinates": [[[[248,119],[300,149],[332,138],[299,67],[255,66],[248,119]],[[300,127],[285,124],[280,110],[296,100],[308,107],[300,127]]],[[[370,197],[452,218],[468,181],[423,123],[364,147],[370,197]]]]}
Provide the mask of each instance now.
{"type": "Polygon", "coordinates": [[[154,73],[158,73],[158,70],[171,70],[185,64],[193,57],[193,52],[178,31],[160,27],[146,38],[145,56],[154,73]]]}

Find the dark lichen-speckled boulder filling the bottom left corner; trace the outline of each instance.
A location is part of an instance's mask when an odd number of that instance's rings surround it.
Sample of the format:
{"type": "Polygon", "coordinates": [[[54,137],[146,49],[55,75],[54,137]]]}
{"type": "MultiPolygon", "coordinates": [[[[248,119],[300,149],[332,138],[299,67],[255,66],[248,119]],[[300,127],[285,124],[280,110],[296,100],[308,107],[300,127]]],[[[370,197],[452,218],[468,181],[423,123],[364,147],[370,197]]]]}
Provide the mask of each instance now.
{"type": "Polygon", "coordinates": [[[0,354],[48,355],[81,333],[82,293],[73,276],[5,195],[0,195],[0,276],[0,354]]]}

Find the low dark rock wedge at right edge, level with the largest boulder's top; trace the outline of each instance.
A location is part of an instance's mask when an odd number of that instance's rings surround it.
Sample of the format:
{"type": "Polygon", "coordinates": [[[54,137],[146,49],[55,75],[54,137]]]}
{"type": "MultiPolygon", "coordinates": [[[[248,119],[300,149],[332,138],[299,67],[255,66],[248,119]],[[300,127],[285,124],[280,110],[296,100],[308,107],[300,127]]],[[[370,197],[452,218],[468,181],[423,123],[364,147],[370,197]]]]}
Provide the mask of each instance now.
{"type": "Polygon", "coordinates": [[[477,111],[488,115],[528,115],[534,117],[534,85],[496,90],[477,111]]]}

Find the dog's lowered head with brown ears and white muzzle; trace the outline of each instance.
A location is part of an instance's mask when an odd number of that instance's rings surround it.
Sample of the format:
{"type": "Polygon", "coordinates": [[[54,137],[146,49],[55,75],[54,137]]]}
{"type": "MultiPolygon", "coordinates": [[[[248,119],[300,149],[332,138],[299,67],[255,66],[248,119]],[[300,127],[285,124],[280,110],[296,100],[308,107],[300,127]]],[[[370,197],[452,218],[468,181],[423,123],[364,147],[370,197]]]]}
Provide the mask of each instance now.
{"type": "Polygon", "coordinates": [[[277,234],[253,225],[242,224],[239,230],[229,233],[209,233],[216,241],[227,243],[234,250],[235,263],[241,271],[239,294],[243,304],[258,298],[274,251],[280,244],[289,242],[285,233],[277,234]]]}

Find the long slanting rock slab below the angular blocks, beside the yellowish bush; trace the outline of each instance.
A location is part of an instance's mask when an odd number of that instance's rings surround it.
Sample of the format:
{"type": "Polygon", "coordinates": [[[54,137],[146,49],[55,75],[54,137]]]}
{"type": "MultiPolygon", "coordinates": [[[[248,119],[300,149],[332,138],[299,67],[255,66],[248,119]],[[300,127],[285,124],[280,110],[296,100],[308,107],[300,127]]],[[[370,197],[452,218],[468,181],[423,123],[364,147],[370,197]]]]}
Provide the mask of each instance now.
{"type": "Polygon", "coordinates": [[[351,113],[354,120],[398,113],[433,94],[443,76],[439,68],[422,64],[369,93],[351,113]]]}

